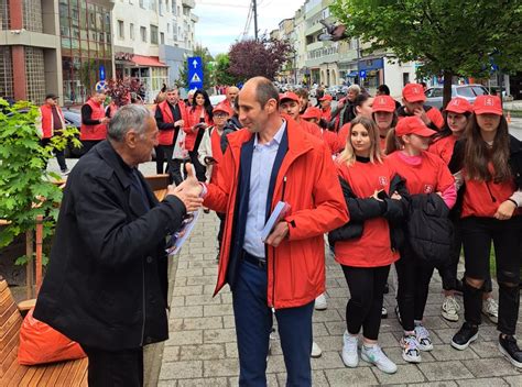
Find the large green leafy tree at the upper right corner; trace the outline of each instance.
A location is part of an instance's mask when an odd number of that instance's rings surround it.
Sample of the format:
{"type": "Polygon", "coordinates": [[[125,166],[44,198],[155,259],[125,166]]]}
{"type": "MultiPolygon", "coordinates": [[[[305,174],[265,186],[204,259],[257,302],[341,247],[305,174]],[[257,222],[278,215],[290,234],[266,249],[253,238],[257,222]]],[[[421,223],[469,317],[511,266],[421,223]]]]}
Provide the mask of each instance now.
{"type": "Polygon", "coordinates": [[[444,107],[454,76],[489,77],[522,68],[522,2],[511,0],[336,0],[347,36],[420,60],[418,75],[444,76],[444,107]]]}

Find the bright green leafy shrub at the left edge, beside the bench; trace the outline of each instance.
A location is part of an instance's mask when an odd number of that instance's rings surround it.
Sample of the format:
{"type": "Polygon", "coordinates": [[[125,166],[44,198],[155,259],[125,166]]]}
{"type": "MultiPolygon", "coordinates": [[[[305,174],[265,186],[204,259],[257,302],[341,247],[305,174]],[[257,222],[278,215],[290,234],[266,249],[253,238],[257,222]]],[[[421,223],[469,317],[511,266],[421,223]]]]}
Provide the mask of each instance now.
{"type": "Polygon", "coordinates": [[[50,145],[41,146],[34,125],[37,114],[30,102],[10,108],[0,99],[0,219],[11,222],[0,230],[0,247],[34,230],[36,215],[44,217],[44,237],[54,231],[62,190],[52,183],[59,176],[47,173],[45,165],[53,157],[53,147],[63,150],[68,141],[80,146],[76,128],[62,130],[50,145]]]}

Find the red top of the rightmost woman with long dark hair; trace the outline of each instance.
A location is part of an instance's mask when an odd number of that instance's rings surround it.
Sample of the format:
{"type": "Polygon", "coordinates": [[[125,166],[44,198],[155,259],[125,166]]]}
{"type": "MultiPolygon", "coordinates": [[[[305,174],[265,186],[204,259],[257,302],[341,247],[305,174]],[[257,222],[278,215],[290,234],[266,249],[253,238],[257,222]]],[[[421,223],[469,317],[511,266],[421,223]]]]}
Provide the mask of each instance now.
{"type": "MultiPolygon", "coordinates": [[[[488,165],[494,176],[493,166],[488,165]]],[[[460,218],[487,217],[493,218],[499,206],[508,200],[515,191],[513,179],[496,184],[493,181],[470,180],[466,177],[466,168],[463,170],[466,190],[464,191],[463,212],[460,218]]]]}

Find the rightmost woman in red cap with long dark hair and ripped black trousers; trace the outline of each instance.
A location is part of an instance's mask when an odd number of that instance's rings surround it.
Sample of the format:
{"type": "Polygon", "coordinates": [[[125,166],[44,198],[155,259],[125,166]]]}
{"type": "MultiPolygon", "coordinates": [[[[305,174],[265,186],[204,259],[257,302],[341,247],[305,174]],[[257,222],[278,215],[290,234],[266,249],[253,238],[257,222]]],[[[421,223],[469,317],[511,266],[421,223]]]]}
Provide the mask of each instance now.
{"type": "Polygon", "coordinates": [[[481,286],[489,272],[491,242],[494,245],[499,283],[499,350],[518,368],[522,351],[514,338],[519,318],[522,147],[510,136],[500,98],[477,97],[475,115],[466,137],[455,145],[449,163],[459,173],[464,189],[461,232],[466,277],[464,308],[466,322],[453,336],[452,346],[465,350],[478,338],[481,323],[481,286]]]}

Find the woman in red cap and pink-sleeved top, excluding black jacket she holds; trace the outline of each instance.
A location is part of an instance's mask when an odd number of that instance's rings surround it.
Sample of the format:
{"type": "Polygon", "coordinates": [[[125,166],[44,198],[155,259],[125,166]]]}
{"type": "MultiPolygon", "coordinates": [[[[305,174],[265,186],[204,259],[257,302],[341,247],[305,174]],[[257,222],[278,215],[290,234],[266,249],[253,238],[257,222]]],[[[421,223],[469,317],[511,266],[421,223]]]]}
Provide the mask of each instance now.
{"type": "MultiPolygon", "coordinates": [[[[410,195],[438,194],[452,208],[457,198],[454,177],[439,157],[426,152],[429,137],[436,132],[420,118],[405,117],[390,133],[387,161],[406,181],[410,195]]],[[[399,279],[395,311],[404,329],[402,357],[410,363],[420,363],[420,351],[433,350],[429,332],[423,325],[423,316],[434,267],[422,264],[405,243],[395,268],[399,279]]]]}

